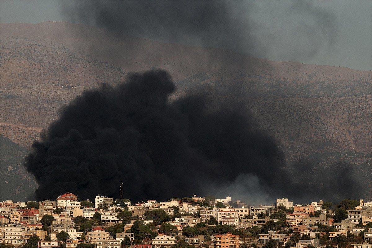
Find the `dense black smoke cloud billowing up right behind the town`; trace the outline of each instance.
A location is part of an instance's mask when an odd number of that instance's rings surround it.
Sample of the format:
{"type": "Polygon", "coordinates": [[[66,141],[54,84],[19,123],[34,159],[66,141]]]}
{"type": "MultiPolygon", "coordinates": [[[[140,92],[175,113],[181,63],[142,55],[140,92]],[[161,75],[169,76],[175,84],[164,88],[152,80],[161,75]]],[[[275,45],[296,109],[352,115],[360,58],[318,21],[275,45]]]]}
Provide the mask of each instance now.
{"type": "Polygon", "coordinates": [[[207,194],[211,186],[266,198],[356,192],[357,184],[344,191],[355,183],[351,178],[337,181],[347,171],[333,181],[299,162],[290,175],[278,144],[243,103],[196,95],[169,102],[174,90],[166,71],[153,70],[85,91],[63,107],[26,159],[39,184],[36,199],[66,191],[80,199],[118,197],[121,181],[124,196],[134,201],[207,194]]]}

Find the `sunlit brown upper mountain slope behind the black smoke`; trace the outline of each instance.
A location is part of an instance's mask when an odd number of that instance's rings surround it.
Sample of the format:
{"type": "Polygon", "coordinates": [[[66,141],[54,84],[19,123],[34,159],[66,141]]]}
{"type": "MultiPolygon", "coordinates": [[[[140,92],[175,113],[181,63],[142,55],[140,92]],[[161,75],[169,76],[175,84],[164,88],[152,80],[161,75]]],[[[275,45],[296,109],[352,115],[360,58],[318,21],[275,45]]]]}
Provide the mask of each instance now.
{"type": "MultiPolygon", "coordinates": [[[[4,123],[46,128],[58,109],[84,89],[115,84],[128,71],[158,67],[176,80],[174,97],[198,91],[221,100],[246,100],[288,154],[371,152],[371,71],[118,38],[58,22],[3,23],[0,50],[4,123]],[[61,87],[70,84],[78,87],[61,87]]],[[[16,141],[8,132],[1,129],[16,141]]]]}

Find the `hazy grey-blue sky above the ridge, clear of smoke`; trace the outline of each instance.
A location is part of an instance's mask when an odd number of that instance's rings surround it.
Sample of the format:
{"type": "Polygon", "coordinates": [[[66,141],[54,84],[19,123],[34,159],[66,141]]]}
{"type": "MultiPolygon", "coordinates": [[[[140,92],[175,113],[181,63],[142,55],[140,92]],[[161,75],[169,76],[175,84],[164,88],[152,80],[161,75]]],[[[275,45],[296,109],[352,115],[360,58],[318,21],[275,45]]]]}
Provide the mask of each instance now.
{"type": "MultiPolygon", "coordinates": [[[[298,2],[304,3],[304,1],[298,2]]],[[[243,6],[244,3],[247,3],[247,6],[249,6],[250,3],[254,3],[254,11],[249,11],[247,9],[246,13],[250,15],[250,19],[253,19],[256,23],[260,23],[260,27],[264,27],[259,30],[254,30],[254,34],[262,38],[262,43],[266,45],[267,48],[264,52],[249,51],[250,54],[255,57],[272,60],[295,60],[305,64],[334,65],[349,67],[356,70],[372,70],[372,1],[334,0],[308,2],[311,3],[308,11],[301,10],[301,13],[297,14],[294,14],[291,9],[291,5],[296,3],[296,1],[243,2],[243,6]],[[321,22],[315,24],[311,23],[316,22],[318,18],[311,16],[316,12],[314,9],[317,11],[324,10],[324,12],[334,17],[334,34],[332,30],[329,29],[324,29],[323,33],[317,34],[324,36],[324,32],[331,32],[330,35],[334,35],[334,40],[332,42],[326,40],[329,43],[328,45],[316,46],[317,51],[311,57],[301,53],[294,57],[292,56],[293,54],[291,55],[291,48],[298,49],[299,51],[304,50],[301,46],[304,46],[307,41],[304,40],[304,42],[302,42],[293,30],[291,30],[291,32],[288,30],[294,27],[296,23],[301,22],[301,20],[304,20],[305,25],[309,24],[322,28],[319,26],[321,22]],[[267,37],[275,37],[276,42],[265,44],[265,38],[267,37]]],[[[1,0],[0,22],[38,23],[50,20],[83,22],[79,19],[72,20],[71,16],[62,15],[62,7],[68,4],[71,5],[71,1],[1,0]]],[[[239,9],[239,15],[244,15],[244,11],[244,9],[239,9]]],[[[190,16],[192,16],[192,13],[190,13],[190,16]]],[[[240,21],[241,20],[245,19],[240,18],[240,21]]],[[[85,23],[87,22],[85,21],[85,23]]],[[[95,25],[96,23],[92,22],[90,24],[95,25]]],[[[127,32],[131,33],[132,31],[128,30],[127,32]]],[[[141,33],[141,36],[154,38],[154,36],[146,33],[141,33]]],[[[156,37],[156,39],[164,42],[174,42],[174,40],[169,37],[160,36],[156,37]]],[[[318,38],[314,38],[314,40],[317,39],[318,38]]],[[[195,39],[180,43],[198,45],[195,39]]],[[[239,49],[235,50],[239,51],[239,49]]]]}

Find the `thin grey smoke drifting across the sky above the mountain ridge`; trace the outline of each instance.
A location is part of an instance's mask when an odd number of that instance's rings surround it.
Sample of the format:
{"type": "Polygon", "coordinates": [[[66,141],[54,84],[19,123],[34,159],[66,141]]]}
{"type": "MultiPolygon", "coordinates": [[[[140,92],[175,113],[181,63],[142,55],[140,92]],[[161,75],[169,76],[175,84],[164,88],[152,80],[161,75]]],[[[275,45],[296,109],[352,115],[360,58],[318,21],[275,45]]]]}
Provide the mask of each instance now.
{"type": "Polygon", "coordinates": [[[333,13],[314,1],[63,1],[72,22],[162,42],[304,61],[334,46],[333,13]]]}

